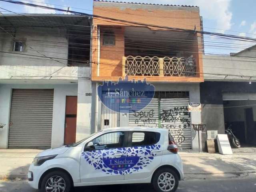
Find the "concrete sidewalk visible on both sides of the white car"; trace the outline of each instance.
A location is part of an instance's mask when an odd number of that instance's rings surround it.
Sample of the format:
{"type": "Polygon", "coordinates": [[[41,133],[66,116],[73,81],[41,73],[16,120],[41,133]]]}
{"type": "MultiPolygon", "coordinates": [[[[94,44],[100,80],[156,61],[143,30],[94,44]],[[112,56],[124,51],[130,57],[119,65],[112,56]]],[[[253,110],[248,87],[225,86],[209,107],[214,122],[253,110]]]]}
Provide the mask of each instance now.
{"type": "MultiPolygon", "coordinates": [[[[0,150],[0,180],[26,179],[28,167],[41,150],[0,150]]],[[[179,152],[186,179],[218,179],[256,173],[256,152],[233,155],[179,152]]]]}

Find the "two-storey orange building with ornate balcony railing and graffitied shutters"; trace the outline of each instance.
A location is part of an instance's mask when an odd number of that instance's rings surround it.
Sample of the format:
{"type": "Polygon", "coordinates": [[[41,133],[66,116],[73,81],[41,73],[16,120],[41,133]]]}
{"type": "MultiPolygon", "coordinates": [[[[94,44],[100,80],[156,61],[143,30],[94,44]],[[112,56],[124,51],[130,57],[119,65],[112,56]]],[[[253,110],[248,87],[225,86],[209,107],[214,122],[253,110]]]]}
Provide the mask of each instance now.
{"type": "Polygon", "coordinates": [[[94,0],[93,13],[117,20],[93,18],[92,95],[104,94],[96,90],[103,81],[125,76],[146,78],[156,88],[152,102],[140,111],[151,113],[150,119],[113,112],[95,98],[95,130],[160,125],[170,129],[181,148],[198,150],[191,124],[201,123],[201,114],[189,113],[187,107],[189,102],[200,102],[200,82],[204,82],[202,36],[196,32],[202,30],[199,8],[94,0]],[[164,110],[172,121],[163,120],[164,110]]]}

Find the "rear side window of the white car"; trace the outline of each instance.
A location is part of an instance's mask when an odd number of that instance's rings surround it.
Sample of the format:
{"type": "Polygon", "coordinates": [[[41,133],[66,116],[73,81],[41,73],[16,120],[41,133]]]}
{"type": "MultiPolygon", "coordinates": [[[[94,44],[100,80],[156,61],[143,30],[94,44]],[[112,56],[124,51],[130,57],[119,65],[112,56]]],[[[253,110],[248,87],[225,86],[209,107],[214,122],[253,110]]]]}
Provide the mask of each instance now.
{"type": "Polygon", "coordinates": [[[160,139],[158,132],[132,132],[131,146],[144,146],[156,144],[160,139]]]}

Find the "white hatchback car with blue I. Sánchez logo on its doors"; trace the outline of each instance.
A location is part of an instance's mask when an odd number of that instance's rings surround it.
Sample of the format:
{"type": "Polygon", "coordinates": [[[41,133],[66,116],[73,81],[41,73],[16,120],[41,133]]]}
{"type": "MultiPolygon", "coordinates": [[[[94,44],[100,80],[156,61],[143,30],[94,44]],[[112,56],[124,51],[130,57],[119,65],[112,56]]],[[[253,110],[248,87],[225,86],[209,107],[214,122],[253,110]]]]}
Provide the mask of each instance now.
{"type": "Polygon", "coordinates": [[[174,192],[183,179],[177,152],[166,129],[110,128],[39,153],[29,167],[28,180],[42,192],[131,183],[152,183],[158,192],[174,192]]]}

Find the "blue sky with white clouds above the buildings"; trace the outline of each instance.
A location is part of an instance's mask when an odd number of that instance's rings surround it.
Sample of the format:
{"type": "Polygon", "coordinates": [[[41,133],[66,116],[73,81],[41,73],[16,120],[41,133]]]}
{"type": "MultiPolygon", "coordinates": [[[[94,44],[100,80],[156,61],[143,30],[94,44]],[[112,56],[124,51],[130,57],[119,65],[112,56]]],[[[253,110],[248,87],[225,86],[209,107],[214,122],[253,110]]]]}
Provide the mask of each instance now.
{"type": "MultiPolygon", "coordinates": [[[[70,10],[92,14],[93,0],[20,1],[62,9],[67,9],[69,6],[70,10]]],[[[124,0],[124,2],[199,6],[200,15],[203,17],[204,31],[256,38],[255,0],[124,0]]],[[[33,8],[7,2],[0,2],[0,7],[18,13],[56,13],[54,10],[33,8]]],[[[0,11],[2,14],[6,13],[4,10],[0,9],[0,11]]],[[[234,43],[245,44],[244,42],[236,41],[234,41],[234,43]]],[[[252,44],[249,45],[251,46],[252,44]]],[[[223,52],[228,53],[232,52],[232,50],[226,50],[223,52]]]]}

